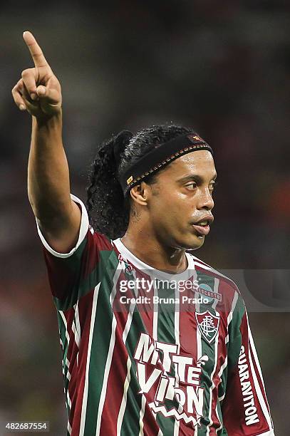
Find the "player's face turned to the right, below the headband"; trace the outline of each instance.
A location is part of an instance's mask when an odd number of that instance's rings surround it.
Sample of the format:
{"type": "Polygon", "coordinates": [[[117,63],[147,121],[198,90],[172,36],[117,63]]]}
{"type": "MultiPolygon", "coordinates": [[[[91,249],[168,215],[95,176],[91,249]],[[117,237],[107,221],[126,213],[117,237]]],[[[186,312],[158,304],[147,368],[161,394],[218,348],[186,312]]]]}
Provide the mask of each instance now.
{"type": "Polygon", "coordinates": [[[213,220],[216,177],[212,154],[199,150],[171,162],[156,184],[147,185],[147,213],[160,242],[182,249],[202,246],[213,220]]]}

